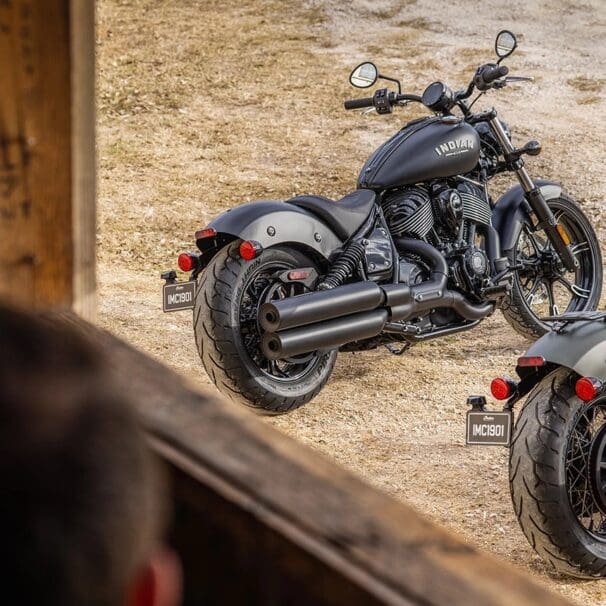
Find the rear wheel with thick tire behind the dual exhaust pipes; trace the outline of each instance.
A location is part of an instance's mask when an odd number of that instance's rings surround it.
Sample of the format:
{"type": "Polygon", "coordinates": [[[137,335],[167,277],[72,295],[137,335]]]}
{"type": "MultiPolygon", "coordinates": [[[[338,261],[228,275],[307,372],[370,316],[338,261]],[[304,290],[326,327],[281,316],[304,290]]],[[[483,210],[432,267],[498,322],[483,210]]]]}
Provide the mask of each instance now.
{"type": "Polygon", "coordinates": [[[230,399],[266,414],[289,412],[313,399],[328,381],[337,350],[269,361],[259,349],[259,306],[285,293],[272,276],[314,263],[290,248],[268,248],[253,261],[240,242],[223,248],[198,282],[194,332],[198,353],[217,388],[230,399]]]}

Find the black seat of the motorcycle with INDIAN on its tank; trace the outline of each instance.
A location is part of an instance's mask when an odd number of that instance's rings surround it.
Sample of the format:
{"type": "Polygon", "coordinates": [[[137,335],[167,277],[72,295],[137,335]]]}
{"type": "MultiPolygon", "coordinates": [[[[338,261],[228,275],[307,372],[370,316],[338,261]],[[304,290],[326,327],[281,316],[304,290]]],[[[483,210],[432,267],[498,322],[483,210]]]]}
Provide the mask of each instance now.
{"type": "Polygon", "coordinates": [[[297,196],[286,200],[322,219],[342,240],[349,239],[368,218],[376,194],[370,189],[358,189],[340,200],[322,196],[297,196]]]}

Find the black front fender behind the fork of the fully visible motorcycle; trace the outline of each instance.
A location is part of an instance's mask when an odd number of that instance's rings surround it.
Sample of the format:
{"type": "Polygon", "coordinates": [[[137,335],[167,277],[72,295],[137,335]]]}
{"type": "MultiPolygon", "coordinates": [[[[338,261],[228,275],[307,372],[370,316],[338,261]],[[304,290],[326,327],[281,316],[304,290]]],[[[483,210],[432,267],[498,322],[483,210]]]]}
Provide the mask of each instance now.
{"type": "MultiPolygon", "coordinates": [[[[562,188],[553,181],[536,179],[535,185],[541,190],[545,200],[559,198],[562,188]]],[[[492,212],[492,226],[499,232],[501,252],[505,253],[516,245],[520,226],[524,223],[526,211],[524,190],[516,185],[505,192],[498,200],[492,212]]]]}

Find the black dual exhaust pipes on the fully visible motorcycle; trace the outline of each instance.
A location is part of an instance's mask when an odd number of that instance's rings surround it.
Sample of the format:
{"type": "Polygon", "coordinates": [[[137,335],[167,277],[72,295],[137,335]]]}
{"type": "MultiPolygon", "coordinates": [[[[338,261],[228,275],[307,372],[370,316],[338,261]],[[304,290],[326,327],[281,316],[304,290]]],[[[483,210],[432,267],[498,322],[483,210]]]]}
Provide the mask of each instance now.
{"type": "Polygon", "coordinates": [[[446,288],[448,267],[433,246],[408,238],[396,244],[430,264],[429,280],[413,286],[356,282],[264,303],[259,309],[259,324],[266,331],[261,339],[263,354],[280,360],[333,349],[375,337],[387,322],[414,318],[436,307],[453,308],[468,320],[480,320],[492,312],[492,303],[475,305],[446,288]]]}

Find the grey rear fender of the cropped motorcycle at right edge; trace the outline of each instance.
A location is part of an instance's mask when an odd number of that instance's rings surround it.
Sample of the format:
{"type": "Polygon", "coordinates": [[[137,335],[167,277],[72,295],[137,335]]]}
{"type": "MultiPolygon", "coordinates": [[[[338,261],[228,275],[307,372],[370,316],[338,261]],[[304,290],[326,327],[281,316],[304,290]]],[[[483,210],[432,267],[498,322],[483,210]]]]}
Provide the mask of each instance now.
{"type": "MultiPolygon", "coordinates": [[[[560,332],[542,336],[524,356],[542,356],[547,363],[571,368],[581,376],[606,380],[606,322],[572,322],[560,332]]],[[[534,369],[518,366],[517,372],[524,378],[534,369]]]]}

